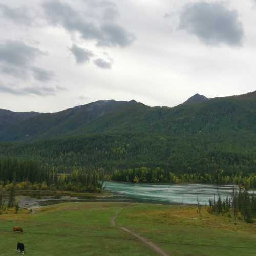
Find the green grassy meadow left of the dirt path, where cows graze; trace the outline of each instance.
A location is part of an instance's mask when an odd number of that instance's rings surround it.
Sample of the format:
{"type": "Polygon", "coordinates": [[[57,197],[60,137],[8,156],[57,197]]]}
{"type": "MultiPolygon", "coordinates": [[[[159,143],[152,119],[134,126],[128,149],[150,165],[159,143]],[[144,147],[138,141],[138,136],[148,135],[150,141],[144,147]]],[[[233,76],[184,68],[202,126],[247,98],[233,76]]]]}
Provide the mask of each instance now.
{"type": "Polygon", "coordinates": [[[0,217],[0,255],[14,255],[17,242],[25,244],[26,255],[154,255],[136,240],[110,226],[121,204],[61,204],[39,214],[0,217]],[[22,226],[24,234],[4,232],[22,226]],[[13,248],[13,249],[12,249],[13,248]]]}

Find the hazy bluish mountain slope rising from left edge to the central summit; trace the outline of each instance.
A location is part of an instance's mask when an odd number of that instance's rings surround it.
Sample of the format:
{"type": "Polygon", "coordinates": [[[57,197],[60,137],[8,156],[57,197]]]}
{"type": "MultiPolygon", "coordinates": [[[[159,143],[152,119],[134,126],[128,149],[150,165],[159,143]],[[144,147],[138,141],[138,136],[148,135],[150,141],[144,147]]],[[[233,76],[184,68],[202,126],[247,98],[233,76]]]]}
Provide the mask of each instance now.
{"type": "Polygon", "coordinates": [[[57,113],[34,115],[0,131],[0,141],[21,141],[65,136],[112,111],[130,108],[136,101],[101,100],[57,113]]]}

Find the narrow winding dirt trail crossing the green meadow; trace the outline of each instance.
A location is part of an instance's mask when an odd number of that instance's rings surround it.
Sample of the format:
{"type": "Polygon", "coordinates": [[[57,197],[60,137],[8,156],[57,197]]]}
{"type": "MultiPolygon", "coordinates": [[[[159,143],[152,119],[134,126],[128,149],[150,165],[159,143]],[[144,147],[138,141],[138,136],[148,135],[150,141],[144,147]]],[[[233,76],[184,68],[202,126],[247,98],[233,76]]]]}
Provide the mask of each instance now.
{"type": "MultiPolygon", "coordinates": [[[[115,227],[115,225],[116,225],[115,219],[116,219],[117,215],[119,214],[119,212],[120,212],[122,209],[124,209],[124,208],[126,208],[126,207],[129,207],[129,206],[131,206],[131,205],[125,206],[125,207],[120,208],[120,209],[118,209],[118,210],[116,211],[114,217],[111,218],[111,220],[110,220],[111,226],[115,227]]],[[[139,236],[138,234],[132,232],[131,230],[129,230],[129,229],[125,228],[125,227],[118,227],[118,228],[122,229],[122,230],[125,231],[126,233],[131,234],[133,237],[138,238],[141,242],[145,243],[148,247],[150,247],[151,249],[153,249],[157,254],[162,255],[162,256],[169,256],[169,255],[166,254],[161,248],[159,248],[157,245],[155,245],[154,243],[152,243],[152,242],[149,241],[148,239],[139,236]]]]}

